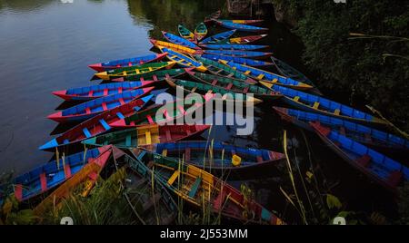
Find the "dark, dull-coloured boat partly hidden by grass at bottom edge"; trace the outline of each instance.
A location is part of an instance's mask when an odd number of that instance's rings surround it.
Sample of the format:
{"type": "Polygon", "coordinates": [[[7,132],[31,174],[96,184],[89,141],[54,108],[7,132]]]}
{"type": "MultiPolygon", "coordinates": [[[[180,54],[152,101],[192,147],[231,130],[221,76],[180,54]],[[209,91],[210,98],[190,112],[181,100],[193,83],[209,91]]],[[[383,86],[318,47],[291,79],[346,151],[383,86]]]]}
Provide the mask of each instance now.
{"type": "MultiPolygon", "coordinates": [[[[125,191],[130,203],[139,209],[144,225],[170,225],[179,211],[169,191],[158,180],[155,172],[144,163],[124,156],[125,191]]],[[[139,219],[139,220],[141,220],[139,219]]]]}

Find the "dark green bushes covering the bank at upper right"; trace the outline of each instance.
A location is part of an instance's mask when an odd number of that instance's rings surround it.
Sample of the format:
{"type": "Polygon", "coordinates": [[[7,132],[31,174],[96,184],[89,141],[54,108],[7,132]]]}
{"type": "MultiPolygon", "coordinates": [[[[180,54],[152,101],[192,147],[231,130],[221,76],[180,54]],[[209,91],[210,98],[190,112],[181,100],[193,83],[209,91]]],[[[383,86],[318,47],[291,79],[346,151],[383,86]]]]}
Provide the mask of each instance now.
{"type": "Polygon", "coordinates": [[[343,94],[361,109],[370,104],[409,130],[408,1],[273,2],[295,20],[304,63],[316,73],[320,88],[343,94]]]}

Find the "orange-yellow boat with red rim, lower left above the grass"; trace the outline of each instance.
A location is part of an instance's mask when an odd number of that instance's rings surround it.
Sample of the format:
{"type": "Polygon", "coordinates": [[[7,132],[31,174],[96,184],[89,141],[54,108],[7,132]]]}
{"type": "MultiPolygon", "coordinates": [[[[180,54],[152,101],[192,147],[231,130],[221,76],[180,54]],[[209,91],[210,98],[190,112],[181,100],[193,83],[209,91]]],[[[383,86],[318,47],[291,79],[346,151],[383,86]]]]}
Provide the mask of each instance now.
{"type": "Polygon", "coordinates": [[[79,193],[81,196],[86,197],[94,188],[96,180],[100,178],[99,175],[101,171],[104,170],[111,154],[114,155],[114,158],[117,158],[114,151],[115,149],[112,148],[104,153],[101,153],[100,156],[95,159],[91,159],[81,170],[76,172],[68,180],[65,180],[65,182],[62,183],[56,190],[48,194],[44,200],[35,206],[35,209],[33,209],[35,216],[42,218],[44,217],[45,213],[49,212],[50,210],[61,209],[64,200],[72,196],[74,190],[76,194],[79,193]],[[84,186],[79,188],[81,184],[84,186]]]}

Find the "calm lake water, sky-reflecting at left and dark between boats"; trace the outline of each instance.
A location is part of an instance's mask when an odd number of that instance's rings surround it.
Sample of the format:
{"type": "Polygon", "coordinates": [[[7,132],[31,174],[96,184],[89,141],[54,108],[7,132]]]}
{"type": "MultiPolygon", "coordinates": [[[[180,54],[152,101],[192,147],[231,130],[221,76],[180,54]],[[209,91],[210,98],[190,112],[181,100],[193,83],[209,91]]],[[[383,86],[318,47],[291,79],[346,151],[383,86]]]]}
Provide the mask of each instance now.
{"type": "MultiPolygon", "coordinates": [[[[194,29],[205,15],[223,6],[224,1],[203,0],[74,0],[72,4],[0,0],[0,172],[20,173],[50,160],[53,155],[38,151],[38,147],[51,139],[56,126],[46,119],[61,103],[51,92],[91,85],[94,72],[87,64],[150,53],[149,37],[160,38],[161,30],[177,33],[179,23],[194,29]]],[[[270,31],[261,44],[270,44],[275,56],[304,70],[299,65],[302,46],[296,38],[281,24],[264,25],[270,31]]],[[[349,209],[391,211],[392,197],[346,165],[314,134],[305,133],[314,148],[311,166],[306,162],[301,131],[280,121],[271,104],[259,110],[253,135],[237,137],[221,127],[215,129],[214,137],[283,151],[286,129],[290,146],[295,148],[290,150],[293,161],[303,173],[310,167],[324,171],[321,180],[327,183],[326,188],[347,201],[349,209]]],[[[280,190],[281,186],[291,192],[288,174],[281,171],[280,175],[264,171],[263,180],[257,175],[254,179],[258,180],[247,181],[269,209],[292,211],[280,190]]]]}

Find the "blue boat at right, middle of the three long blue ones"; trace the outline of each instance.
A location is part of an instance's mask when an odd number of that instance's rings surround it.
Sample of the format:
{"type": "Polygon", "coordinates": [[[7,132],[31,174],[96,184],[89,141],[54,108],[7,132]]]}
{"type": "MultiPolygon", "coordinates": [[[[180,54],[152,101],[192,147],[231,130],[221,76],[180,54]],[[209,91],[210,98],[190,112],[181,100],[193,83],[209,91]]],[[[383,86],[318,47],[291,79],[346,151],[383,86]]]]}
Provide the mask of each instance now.
{"type": "Polygon", "coordinates": [[[409,141],[394,134],[379,131],[351,121],[344,121],[322,114],[303,112],[294,109],[274,107],[284,121],[289,121],[308,131],[314,131],[310,121],[319,121],[326,127],[338,131],[345,137],[373,147],[409,150],[409,141]]]}

